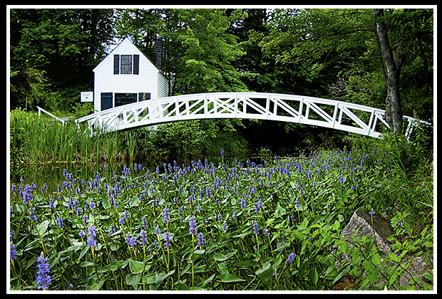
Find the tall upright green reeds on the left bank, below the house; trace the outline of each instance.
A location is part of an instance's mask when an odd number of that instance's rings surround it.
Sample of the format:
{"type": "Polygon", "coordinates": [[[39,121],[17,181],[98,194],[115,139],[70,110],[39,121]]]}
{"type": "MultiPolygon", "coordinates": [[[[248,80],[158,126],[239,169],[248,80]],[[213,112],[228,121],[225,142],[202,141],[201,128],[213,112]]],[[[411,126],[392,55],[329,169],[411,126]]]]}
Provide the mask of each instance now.
{"type": "MultiPolygon", "coordinates": [[[[10,113],[11,164],[93,163],[128,159],[124,132],[91,132],[75,122],[53,121],[36,113],[10,113]]],[[[136,144],[136,140],[132,140],[136,144]]],[[[130,152],[133,159],[134,152],[130,152]]],[[[14,168],[14,167],[13,167],[14,168]]],[[[15,167],[16,168],[16,167],[15,167]]]]}

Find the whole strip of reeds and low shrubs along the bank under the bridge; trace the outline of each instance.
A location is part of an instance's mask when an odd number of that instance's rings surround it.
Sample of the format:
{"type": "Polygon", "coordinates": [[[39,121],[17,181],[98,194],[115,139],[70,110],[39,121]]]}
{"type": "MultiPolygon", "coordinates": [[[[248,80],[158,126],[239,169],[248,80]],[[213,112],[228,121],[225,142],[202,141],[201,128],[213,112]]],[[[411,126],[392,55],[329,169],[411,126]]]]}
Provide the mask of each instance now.
{"type": "Polygon", "coordinates": [[[209,136],[197,122],[171,126],[165,124],[151,131],[134,130],[103,132],[78,126],[73,121],[64,125],[35,112],[10,112],[11,169],[42,163],[114,163],[155,159],[185,161],[204,155],[247,152],[247,142],[235,132],[212,132],[209,136]],[[181,130],[175,130],[181,128],[181,130]],[[181,132],[183,131],[183,132],[181,132]]]}

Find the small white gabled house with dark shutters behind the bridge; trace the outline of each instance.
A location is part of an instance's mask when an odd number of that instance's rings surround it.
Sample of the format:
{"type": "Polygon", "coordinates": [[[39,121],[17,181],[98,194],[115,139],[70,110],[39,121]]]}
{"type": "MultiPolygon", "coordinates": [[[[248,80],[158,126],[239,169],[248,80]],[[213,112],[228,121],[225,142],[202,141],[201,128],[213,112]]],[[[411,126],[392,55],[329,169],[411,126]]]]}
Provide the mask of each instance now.
{"type": "Polygon", "coordinates": [[[93,73],[97,111],[168,96],[168,78],[128,38],[93,73]]]}

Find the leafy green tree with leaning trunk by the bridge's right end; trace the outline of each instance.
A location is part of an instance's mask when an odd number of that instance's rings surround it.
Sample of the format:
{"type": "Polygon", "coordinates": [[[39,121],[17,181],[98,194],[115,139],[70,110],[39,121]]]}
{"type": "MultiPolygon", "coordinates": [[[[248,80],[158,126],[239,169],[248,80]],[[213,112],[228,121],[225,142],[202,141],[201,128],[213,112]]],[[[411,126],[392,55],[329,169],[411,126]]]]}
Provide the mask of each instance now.
{"type": "MultiPolygon", "coordinates": [[[[431,43],[427,36],[432,36],[433,13],[425,9],[392,9],[388,16],[382,14],[379,9],[276,9],[268,22],[269,33],[261,34],[259,45],[284,65],[304,63],[304,78],[318,84],[331,85],[343,74],[356,80],[361,74],[369,78],[367,74],[383,73],[385,65],[386,121],[391,130],[401,132],[401,70],[406,58],[411,57],[411,65],[431,73],[428,61],[432,61],[432,46],[427,46],[431,43]],[[321,78],[325,81],[321,82],[321,78]]],[[[407,100],[417,107],[420,99],[407,100]]]]}

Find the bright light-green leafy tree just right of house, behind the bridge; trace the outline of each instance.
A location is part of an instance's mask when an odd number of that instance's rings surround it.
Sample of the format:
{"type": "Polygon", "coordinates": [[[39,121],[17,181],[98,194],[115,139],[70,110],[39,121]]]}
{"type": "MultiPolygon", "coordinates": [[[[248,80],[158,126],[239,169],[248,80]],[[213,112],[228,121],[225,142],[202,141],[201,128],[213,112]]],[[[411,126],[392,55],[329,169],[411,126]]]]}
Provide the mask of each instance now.
{"type": "Polygon", "coordinates": [[[224,9],[180,10],[187,29],[178,37],[183,55],[175,78],[179,93],[245,91],[241,73],[232,63],[244,55],[237,36],[228,33],[240,11],[226,16],[224,9]]]}

